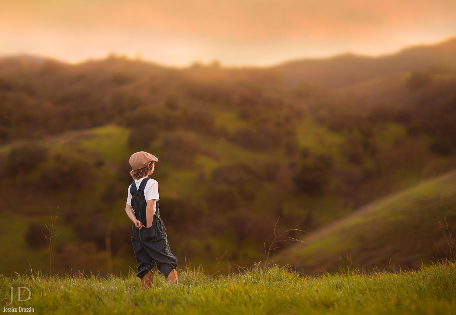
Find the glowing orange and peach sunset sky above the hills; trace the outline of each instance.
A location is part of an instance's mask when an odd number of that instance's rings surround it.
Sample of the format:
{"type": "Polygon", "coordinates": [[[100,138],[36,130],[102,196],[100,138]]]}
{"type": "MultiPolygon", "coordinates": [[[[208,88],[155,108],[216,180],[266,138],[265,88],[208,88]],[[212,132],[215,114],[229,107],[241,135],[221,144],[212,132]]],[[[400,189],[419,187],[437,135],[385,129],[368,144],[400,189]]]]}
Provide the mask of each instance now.
{"type": "Polygon", "coordinates": [[[0,55],[184,67],[370,56],[456,36],[456,0],[0,0],[0,55]]]}

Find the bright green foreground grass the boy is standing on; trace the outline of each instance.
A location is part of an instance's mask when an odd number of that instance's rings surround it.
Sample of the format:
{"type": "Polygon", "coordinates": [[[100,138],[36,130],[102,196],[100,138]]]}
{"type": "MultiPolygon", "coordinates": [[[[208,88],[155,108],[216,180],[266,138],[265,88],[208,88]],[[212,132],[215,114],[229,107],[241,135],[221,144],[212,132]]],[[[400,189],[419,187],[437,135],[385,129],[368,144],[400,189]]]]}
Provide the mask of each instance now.
{"type": "Polygon", "coordinates": [[[0,299],[7,307],[32,307],[35,314],[456,314],[455,262],[395,273],[302,276],[256,264],[230,275],[208,276],[200,268],[179,275],[174,287],[155,273],[150,290],[133,273],[0,275],[0,299]],[[19,286],[29,288],[31,298],[8,306],[10,287],[19,286]]]}

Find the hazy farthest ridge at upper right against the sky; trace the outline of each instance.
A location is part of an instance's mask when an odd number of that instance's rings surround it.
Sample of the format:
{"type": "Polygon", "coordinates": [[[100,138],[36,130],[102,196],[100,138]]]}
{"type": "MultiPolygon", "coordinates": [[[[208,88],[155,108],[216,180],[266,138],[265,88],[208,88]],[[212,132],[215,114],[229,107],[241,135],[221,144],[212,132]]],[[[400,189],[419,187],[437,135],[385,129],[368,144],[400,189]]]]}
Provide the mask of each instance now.
{"type": "Polygon", "coordinates": [[[380,57],[347,53],[332,58],[288,61],[272,68],[283,75],[286,84],[304,81],[328,88],[343,88],[365,80],[403,71],[424,71],[430,67],[456,69],[456,37],[380,57]]]}

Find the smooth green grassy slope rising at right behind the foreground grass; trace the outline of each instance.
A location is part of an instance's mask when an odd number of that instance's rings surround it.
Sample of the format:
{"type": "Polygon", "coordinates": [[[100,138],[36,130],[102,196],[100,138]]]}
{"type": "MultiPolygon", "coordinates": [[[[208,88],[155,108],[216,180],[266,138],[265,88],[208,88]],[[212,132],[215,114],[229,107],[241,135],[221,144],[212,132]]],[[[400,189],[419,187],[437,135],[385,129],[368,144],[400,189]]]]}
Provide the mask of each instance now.
{"type": "MultiPolygon", "coordinates": [[[[370,203],[312,233],[304,239],[307,244],[287,248],[272,259],[306,273],[334,271],[341,265],[418,268],[454,257],[450,255],[456,243],[449,247],[448,241],[455,227],[456,171],[452,171],[370,203]]],[[[452,237],[454,242],[454,233],[452,237]]]]}

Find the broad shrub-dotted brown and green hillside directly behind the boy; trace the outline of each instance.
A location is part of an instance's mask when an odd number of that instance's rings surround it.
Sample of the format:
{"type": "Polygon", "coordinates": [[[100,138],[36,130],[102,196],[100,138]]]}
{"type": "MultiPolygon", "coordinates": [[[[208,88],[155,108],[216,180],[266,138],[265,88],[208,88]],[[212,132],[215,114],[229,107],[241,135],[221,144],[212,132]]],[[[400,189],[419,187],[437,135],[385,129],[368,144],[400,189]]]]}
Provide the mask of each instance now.
{"type": "Polygon", "coordinates": [[[282,79],[115,55],[1,59],[0,272],[48,268],[57,209],[52,271],[134,266],[135,151],[159,157],[152,177],[180,263],[211,270],[264,259],[279,216],[282,230],[313,232],[456,168],[455,72],[398,69],[347,89],[282,79]]]}

